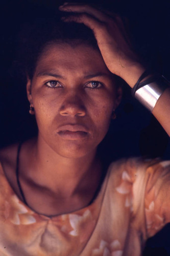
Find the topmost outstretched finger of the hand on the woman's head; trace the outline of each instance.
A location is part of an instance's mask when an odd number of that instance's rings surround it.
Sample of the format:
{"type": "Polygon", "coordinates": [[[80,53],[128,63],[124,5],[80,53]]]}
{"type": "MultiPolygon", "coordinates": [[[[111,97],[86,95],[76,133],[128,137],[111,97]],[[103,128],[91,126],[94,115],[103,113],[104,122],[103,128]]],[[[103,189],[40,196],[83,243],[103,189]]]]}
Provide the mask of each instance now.
{"type": "Polygon", "coordinates": [[[59,9],[65,12],[87,13],[101,20],[102,22],[109,21],[108,15],[89,5],[67,4],[64,6],[60,6],[59,9]]]}

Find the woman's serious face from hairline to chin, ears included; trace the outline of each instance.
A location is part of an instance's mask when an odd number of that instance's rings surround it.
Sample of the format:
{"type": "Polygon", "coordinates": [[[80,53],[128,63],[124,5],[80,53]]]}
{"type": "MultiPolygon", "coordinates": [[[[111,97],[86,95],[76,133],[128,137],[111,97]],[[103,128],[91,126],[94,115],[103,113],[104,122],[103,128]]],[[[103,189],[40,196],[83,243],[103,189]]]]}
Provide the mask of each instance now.
{"type": "Polygon", "coordinates": [[[84,44],[46,47],[27,92],[39,139],[68,158],[96,150],[120,98],[101,54],[84,44]]]}

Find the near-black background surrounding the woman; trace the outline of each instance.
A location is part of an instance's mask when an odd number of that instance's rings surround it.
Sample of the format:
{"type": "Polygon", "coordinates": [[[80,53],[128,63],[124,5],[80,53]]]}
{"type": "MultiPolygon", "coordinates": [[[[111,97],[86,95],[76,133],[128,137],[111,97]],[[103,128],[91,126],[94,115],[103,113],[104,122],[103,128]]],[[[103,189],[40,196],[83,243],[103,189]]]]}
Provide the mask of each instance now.
{"type": "MultiPolygon", "coordinates": [[[[62,3],[57,0],[7,0],[1,3],[0,147],[36,134],[34,117],[29,115],[25,82],[14,62],[17,33],[23,23],[38,16],[54,15],[54,9],[62,3]]],[[[93,3],[105,5],[126,16],[136,51],[146,63],[170,80],[170,1],[115,0],[93,3]]],[[[139,155],[169,159],[167,134],[148,110],[131,98],[127,86],[116,114],[117,118],[112,121],[109,131],[114,159],[139,155]]],[[[170,255],[169,231],[167,226],[152,238],[144,255],[170,255]]]]}

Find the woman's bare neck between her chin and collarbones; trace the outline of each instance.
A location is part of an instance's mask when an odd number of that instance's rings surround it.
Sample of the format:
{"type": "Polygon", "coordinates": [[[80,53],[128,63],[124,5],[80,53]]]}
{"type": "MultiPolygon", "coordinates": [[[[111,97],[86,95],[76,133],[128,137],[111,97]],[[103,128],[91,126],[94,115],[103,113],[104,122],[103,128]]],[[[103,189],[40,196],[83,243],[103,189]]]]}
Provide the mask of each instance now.
{"type": "Polygon", "coordinates": [[[66,158],[57,154],[38,137],[29,166],[29,178],[62,196],[72,196],[87,186],[98,186],[101,165],[96,149],[81,158],[66,158]]]}

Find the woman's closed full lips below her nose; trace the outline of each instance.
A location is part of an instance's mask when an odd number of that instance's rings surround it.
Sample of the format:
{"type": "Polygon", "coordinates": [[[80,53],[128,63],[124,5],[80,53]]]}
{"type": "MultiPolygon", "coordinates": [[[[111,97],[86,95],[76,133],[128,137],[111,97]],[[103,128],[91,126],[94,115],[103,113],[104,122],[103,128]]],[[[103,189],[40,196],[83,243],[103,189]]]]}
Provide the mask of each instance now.
{"type": "Polygon", "coordinates": [[[85,139],[89,135],[87,128],[81,124],[62,125],[58,127],[57,134],[69,140],[85,139]]]}

